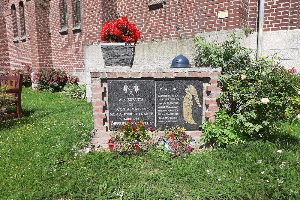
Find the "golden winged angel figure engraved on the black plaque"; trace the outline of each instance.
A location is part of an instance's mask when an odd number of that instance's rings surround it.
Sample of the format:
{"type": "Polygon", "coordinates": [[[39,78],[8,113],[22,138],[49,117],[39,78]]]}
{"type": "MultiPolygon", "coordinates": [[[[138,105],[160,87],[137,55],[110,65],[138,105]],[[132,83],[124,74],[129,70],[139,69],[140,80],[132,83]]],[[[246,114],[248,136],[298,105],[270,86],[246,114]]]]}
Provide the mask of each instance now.
{"type": "Polygon", "coordinates": [[[192,106],[193,106],[192,96],[195,97],[196,103],[201,108],[196,88],[194,88],[193,85],[188,85],[187,88],[185,89],[185,92],[187,94],[185,95],[185,97],[183,97],[183,119],[189,124],[196,124],[192,116],[192,106]]]}

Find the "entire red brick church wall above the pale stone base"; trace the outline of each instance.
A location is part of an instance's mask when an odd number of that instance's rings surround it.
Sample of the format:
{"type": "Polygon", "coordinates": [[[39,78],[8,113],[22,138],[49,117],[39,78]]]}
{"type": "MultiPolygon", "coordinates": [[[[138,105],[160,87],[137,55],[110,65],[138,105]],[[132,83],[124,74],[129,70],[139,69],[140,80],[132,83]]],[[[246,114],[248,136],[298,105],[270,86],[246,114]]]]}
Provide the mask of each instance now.
{"type": "MultiPolygon", "coordinates": [[[[44,0],[22,0],[27,40],[13,43],[16,36],[19,39],[23,36],[19,1],[4,0],[1,1],[3,5],[0,3],[0,33],[4,31],[1,34],[4,36],[0,38],[0,69],[9,66],[8,62],[11,68],[26,62],[32,64],[34,70],[53,66],[67,71],[84,71],[83,47],[101,42],[102,25],[115,20],[116,13],[120,13],[121,18],[127,16],[130,22],[135,23],[141,31],[140,42],[147,43],[152,40],[192,38],[199,32],[241,26],[257,31],[259,9],[257,0],[167,0],[166,5],[157,10],[149,10],[149,0],[81,0],[82,31],[73,33],[75,2],[67,0],[69,29],[68,34],[61,35],[62,0],[50,0],[50,13],[46,7],[39,5],[40,1],[46,5],[44,0]],[[12,4],[15,4],[16,12],[10,9],[12,4]],[[217,13],[222,11],[228,11],[228,18],[217,19],[217,13]]],[[[265,31],[298,28],[299,0],[266,0],[265,31]]]]}

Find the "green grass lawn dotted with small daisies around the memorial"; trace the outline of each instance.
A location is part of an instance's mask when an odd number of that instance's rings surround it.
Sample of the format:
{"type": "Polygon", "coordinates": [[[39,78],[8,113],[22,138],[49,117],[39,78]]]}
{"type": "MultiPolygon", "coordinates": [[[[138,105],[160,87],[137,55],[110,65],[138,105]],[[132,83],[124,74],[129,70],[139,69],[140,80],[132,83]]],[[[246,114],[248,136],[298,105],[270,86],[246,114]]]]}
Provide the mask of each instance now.
{"type": "Polygon", "coordinates": [[[25,88],[22,105],[23,118],[0,122],[1,200],[300,199],[299,124],[182,159],[159,149],[75,157],[93,129],[90,103],[25,88]]]}

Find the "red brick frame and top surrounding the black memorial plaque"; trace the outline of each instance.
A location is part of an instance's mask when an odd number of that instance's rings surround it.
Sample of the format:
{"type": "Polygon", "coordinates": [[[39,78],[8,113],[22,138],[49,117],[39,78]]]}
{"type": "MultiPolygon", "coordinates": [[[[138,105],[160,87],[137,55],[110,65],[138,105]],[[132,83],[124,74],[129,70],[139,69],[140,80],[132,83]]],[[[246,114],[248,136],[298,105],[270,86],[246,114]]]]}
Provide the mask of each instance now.
{"type": "MultiPolygon", "coordinates": [[[[160,70],[133,69],[101,69],[102,72],[91,73],[92,104],[94,112],[94,131],[91,132],[91,143],[95,146],[108,147],[111,138],[109,128],[109,96],[108,82],[110,80],[199,80],[203,81],[203,114],[202,120],[214,121],[215,112],[219,110],[217,97],[220,94],[218,76],[220,68],[169,68],[160,70]],[[118,71],[118,72],[116,72],[118,71]]],[[[202,135],[199,130],[186,131],[196,141],[202,135]]]]}

